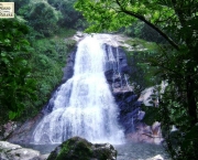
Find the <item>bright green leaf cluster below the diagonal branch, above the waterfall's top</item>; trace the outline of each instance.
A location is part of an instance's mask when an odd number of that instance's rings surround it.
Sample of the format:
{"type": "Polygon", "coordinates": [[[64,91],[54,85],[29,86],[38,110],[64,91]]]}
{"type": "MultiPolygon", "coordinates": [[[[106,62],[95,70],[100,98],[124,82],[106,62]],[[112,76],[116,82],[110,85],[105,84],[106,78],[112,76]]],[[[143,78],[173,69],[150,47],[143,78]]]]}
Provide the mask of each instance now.
{"type": "Polygon", "coordinates": [[[75,4],[78,11],[91,24],[87,32],[101,32],[103,30],[116,31],[121,26],[128,26],[134,18],[117,12],[114,2],[78,0],[75,4]]]}

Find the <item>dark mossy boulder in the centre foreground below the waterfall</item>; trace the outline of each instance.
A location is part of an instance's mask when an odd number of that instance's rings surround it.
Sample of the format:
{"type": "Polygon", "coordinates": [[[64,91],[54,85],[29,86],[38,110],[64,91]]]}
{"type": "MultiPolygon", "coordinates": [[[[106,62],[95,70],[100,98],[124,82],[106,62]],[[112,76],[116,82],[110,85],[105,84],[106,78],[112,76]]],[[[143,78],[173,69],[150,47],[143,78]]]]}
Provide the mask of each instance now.
{"type": "Polygon", "coordinates": [[[91,143],[80,137],[64,141],[47,160],[116,160],[117,150],[110,143],[91,143]]]}

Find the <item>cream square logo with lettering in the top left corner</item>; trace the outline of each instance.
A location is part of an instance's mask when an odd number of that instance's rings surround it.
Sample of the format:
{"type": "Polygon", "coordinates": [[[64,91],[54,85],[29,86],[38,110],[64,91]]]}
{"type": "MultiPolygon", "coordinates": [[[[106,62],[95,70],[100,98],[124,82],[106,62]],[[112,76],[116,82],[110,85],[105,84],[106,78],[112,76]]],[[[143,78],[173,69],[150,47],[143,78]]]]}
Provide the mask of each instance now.
{"type": "Polygon", "coordinates": [[[14,18],[14,2],[0,2],[0,19],[14,18]]]}

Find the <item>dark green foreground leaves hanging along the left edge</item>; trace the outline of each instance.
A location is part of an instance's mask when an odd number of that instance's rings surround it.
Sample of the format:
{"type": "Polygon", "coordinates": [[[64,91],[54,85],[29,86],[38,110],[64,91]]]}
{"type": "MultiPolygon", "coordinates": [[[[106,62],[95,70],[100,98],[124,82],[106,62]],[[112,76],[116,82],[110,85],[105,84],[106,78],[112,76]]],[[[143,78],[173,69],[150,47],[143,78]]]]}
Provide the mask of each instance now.
{"type": "Polygon", "coordinates": [[[0,20],[0,118],[14,119],[25,109],[24,99],[36,98],[28,65],[28,28],[16,19],[0,20]]]}

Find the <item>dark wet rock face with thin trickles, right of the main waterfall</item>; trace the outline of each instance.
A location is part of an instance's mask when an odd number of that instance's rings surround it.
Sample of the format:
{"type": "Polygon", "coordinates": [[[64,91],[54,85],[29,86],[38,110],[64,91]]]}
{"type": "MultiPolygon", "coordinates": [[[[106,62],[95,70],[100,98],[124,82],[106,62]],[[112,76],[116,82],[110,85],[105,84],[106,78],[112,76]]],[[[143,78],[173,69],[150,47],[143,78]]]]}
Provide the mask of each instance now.
{"type": "Polygon", "coordinates": [[[107,56],[112,53],[116,60],[116,66],[112,62],[107,62],[106,78],[119,106],[119,122],[124,128],[124,134],[135,131],[136,126],[141,122],[140,118],[141,102],[138,102],[138,95],[132,90],[128,82],[129,66],[128,60],[122,47],[105,45],[107,56]],[[111,49],[111,51],[109,51],[111,49]],[[110,53],[111,52],[111,53],[110,53]],[[110,63],[110,64],[109,64],[110,63]]]}

